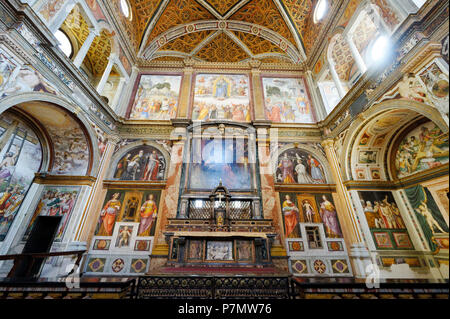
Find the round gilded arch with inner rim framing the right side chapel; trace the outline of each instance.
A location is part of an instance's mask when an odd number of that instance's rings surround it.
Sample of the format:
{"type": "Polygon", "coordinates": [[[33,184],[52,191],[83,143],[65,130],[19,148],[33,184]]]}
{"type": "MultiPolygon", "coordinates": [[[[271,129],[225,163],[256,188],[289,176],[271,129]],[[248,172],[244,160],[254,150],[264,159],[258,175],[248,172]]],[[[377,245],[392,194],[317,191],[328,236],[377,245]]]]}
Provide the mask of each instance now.
{"type": "MultiPolygon", "coordinates": [[[[355,151],[357,151],[358,149],[358,143],[360,142],[360,138],[364,134],[365,130],[368,129],[372,123],[374,123],[378,119],[382,119],[383,116],[393,111],[408,113],[411,115],[411,119],[409,122],[402,124],[399,123],[394,127],[395,129],[390,129],[390,134],[388,134],[389,136],[386,136],[386,143],[391,141],[393,138],[396,138],[400,131],[404,130],[405,125],[408,126],[412,123],[411,121],[417,120],[419,116],[422,116],[434,122],[444,133],[449,132],[449,128],[439,111],[429,105],[402,99],[388,100],[379,104],[375,104],[366,112],[361,113],[359,116],[357,116],[349,127],[348,131],[352,132],[352,134],[347,135],[347,137],[345,138],[342,147],[343,151],[340,154],[339,158],[339,162],[342,164],[341,168],[344,180],[355,179],[355,166],[352,163],[355,161],[355,158],[357,156],[357,154],[355,154],[355,151]]],[[[392,143],[389,145],[386,143],[379,147],[379,151],[381,153],[378,154],[376,163],[383,172],[384,179],[389,179],[391,177],[391,174],[389,173],[388,163],[386,163],[386,159],[387,154],[390,151],[389,147],[392,143]]],[[[366,179],[362,178],[362,180],[366,179]]]]}

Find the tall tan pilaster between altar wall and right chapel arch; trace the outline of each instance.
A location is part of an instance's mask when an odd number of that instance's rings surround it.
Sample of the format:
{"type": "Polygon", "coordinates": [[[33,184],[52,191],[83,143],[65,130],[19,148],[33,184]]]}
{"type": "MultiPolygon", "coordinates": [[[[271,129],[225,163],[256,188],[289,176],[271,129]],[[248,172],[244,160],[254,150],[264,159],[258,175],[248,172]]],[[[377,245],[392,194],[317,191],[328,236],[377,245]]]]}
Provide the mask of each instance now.
{"type": "Polygon", "coordinates": [[[359,228],[358,218],[353,209],[350,195],[343,184],[342,171],[334,150],[334,141],[327,139],[322,142],[322,146],[325,149],[333,178],[336,182],[336,193],[338,195],[336,199],[340,200],[339,206],[341,207],[338,210],[338,217],[341,222],[345,242],[349,247],[353,270],[357,278],[365,278],[366,267],[371,264],[371,257],[359,228]]]}

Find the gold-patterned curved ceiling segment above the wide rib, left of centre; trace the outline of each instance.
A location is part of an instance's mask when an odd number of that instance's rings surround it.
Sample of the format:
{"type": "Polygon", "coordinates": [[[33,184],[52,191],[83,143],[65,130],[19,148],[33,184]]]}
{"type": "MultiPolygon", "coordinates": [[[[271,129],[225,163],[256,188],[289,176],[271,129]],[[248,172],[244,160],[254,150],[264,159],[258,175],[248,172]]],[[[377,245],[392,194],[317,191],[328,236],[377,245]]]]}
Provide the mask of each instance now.
{"type": "Polygon", "coordinates": [[[196,1],[171,0],[150,33],[147,45],[170,28],[197,20],[214,20],[214,16],[196,1]]]}

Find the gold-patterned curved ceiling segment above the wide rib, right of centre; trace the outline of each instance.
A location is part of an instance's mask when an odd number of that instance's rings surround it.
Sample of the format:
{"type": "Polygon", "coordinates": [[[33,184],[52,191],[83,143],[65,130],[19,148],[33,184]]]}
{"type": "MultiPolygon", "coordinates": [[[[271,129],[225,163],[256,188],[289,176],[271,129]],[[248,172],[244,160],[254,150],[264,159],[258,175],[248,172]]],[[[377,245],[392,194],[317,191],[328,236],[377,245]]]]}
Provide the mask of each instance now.
{"type": "Polygon", "coordinates": [[[264,26],[279,33],[295,45],[295,39],[289,27],[272,0],[253,0],[233,14],[230,20],[245,21],[264,26]]]}

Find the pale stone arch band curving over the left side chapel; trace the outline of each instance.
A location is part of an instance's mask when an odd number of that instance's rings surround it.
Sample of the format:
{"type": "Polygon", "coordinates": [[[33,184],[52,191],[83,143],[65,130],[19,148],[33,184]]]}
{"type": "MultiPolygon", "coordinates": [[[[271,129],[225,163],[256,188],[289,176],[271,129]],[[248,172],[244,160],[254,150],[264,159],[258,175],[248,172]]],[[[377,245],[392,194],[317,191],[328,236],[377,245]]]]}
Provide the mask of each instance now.
{"type": "Polygon", "coordinates": [[[12,108],[13,106],[20,105],[27,102],[47,102],[53,104],[57,107],[62,108],[68,114],[70,114],[80,127],[84,130],[86,141],[90,150],[90,170],[86,173],[86,175],[96,175],[100,165],[100,154],[99,149],[96,147],[97,145],[97,135],[88,116],[81,112],[80,108],[74,104],[71,104],[67,100],[49,94],[49,93],[20,93],[17,95],[11,95],[1,100],[0,103],[0,114],[5,112],[6,110],[12,108]]]}

